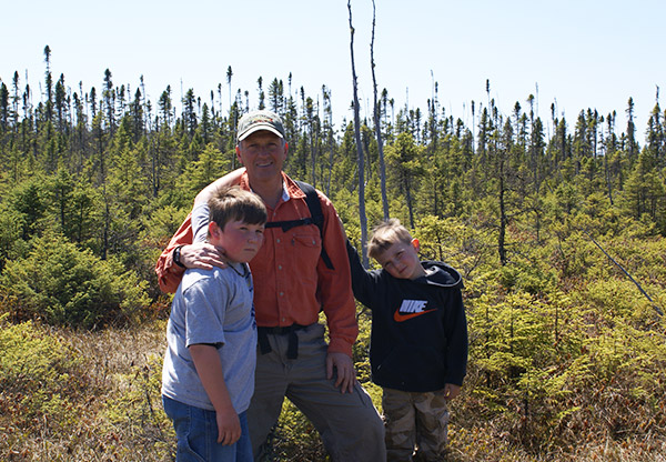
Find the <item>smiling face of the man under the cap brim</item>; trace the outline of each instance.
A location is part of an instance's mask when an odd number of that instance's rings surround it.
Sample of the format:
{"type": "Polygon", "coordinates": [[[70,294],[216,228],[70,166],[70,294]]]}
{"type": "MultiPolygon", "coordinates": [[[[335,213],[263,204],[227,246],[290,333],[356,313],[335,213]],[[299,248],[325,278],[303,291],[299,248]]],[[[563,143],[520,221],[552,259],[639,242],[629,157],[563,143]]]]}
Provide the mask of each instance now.
{"type": "Polygon", "coordinates": [[[282,174],[289,147],[284,140],[266,130],[252,133],[236,147],[236,154],[252,181],[272,180],[282,174]]]}

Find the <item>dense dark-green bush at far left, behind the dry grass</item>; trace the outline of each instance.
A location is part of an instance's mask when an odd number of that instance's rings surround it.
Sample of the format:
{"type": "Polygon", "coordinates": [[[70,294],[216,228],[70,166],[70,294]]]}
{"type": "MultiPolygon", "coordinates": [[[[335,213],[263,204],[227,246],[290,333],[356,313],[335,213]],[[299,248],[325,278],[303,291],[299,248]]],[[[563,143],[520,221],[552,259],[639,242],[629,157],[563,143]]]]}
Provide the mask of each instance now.
{"type": "Polygon", "coordinates": [[[49,323],[93,328],[135,320],[147,283],[115,259],[100,260],[58,234],[36,238],[26,258],[8,262],[0,288],[49,323]]]}

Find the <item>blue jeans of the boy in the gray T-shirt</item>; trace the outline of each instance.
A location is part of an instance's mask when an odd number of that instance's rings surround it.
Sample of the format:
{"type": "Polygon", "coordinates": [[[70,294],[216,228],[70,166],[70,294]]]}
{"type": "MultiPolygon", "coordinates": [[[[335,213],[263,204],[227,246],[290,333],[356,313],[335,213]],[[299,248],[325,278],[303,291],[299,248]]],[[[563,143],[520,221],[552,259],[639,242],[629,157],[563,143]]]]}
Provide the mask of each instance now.
{"type": "Polygon", "coordinates": [[[164,395],[162,404],[175,429],[176,462],[253,462],[245,412],[239,414],[241,439],[234,444],[222,445],[218,443],[215,411],[183,404],[164,395]]]}

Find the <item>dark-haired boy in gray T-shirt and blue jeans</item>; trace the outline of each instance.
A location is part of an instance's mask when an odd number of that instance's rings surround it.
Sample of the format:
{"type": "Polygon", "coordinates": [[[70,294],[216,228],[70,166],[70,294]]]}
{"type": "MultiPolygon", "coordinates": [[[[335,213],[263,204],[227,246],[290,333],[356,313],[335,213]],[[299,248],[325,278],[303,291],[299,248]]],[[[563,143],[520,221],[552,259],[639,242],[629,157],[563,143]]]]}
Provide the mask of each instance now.
{"type": "Polygon", "coordinates": [[[167,327],[162,401],[178,438],[176,461],[252,461],[245,411],[254,391],[256,324],[248,261],[263,242],[266,209],[224,188],[208,203],[208,240],[229,268],[190,269],[167,327]]]}

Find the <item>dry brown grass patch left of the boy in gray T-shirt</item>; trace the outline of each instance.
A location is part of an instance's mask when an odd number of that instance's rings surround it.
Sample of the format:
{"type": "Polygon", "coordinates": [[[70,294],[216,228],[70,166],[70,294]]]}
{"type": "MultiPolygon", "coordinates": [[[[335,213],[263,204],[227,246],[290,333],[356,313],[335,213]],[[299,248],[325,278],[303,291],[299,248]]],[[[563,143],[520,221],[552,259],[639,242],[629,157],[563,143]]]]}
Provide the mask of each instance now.
{"type": "MultiPolygon", "coordinates": [[[[81,368],[72,373],[81,374],[85,386],[71,403],[74,416],[64,423],[52,424],[49,415],[40,415],[29,425],[17,428],[0,416],[0,460],[172,460],[173,439],[165,421],[148,425],[134,421],[137,408],[144,403],[129,401],[133,409],[127,409],[124,422],[122,415],[110,419],[114,404],[129,391],[142,386],[144,376],[137,371],[151,366],[151,355],[163,354],[163,322],[101,332],[40,329],[46,335],[61,337],[72,354],[82,360],[81,368]]],[[[144,401],[159,399],[152,394],[145,395],[144,401]]],[[[159,402],[152,402],[151,406],[161,412],[159,402]]]]}

